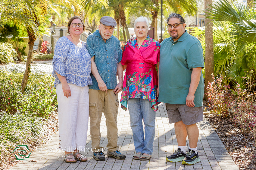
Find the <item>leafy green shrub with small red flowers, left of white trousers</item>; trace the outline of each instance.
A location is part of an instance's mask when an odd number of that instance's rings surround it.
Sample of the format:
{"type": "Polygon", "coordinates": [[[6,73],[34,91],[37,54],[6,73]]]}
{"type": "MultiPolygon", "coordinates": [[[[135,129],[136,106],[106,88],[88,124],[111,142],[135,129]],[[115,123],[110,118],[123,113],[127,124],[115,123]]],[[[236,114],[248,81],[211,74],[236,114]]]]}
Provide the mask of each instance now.
{"type": "Polygon", "coordinates": [[[56,89],[38,82],[34,87],[27,86],[22,93],[19,85],[11,79],[0,81],[0,108],[8,113],[37,114],[48,118],[56,110],[56,89]],[[16,84],[16,83],[15,83],[16,84]]]}

